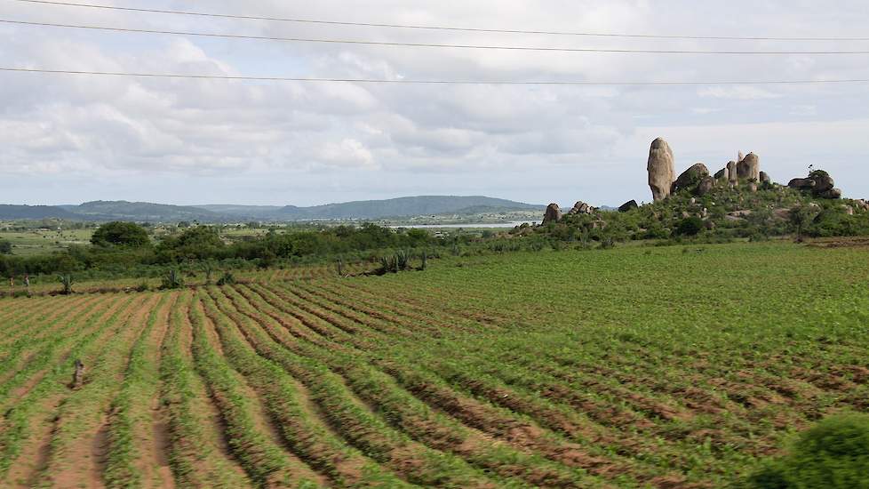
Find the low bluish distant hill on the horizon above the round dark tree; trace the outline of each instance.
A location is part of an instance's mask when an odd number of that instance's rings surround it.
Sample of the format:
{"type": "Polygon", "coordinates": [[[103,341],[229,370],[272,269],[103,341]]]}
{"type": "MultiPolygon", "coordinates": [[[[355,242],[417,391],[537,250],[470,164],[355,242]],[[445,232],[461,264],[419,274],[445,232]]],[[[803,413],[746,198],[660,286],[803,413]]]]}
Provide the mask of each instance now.
{"type": "Polygon", "coordinates": [[[175,222],[179,220],[198,220],[200,222],[224,222],[234,220],[227,214],[211,212],[199,207],[184,205],[151,204],[149,202],[127,202],[125,200],[85,202],[81,205],[67,206],[68,212],[86,220],[136,220],[175,222]]]}

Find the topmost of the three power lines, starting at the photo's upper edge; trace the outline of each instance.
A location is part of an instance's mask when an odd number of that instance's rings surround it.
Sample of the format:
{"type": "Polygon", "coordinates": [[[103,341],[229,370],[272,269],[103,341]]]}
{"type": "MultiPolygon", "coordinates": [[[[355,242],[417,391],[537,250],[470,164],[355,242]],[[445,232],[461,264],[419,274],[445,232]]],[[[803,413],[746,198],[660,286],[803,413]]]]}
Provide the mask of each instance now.
{"type": "Polygon", "coordinates": [[[628,37],[628,38],[645,38],[645,39],[694,39],[694,40],[719,40],[719,41],[869,41],[869,37],[765,37],[765,36],[683,36],[683,35],[654,35],[654,34],[624,34],[624,33],[604,33],[604,32],[575,32],[575,31],[550,31],[550,30],[521,30],[521,29],[506,29],[506,28],[455,28],[445,26],[424,26],[413,24],[386,24],[374,22],[348,22],[339,20],[313,20],[313,19],[293,19],[285,17],[265,17],[255,15],[239,15],[230,13],[210,13],[210,12],[190,12],[178,10],[158,10],[133,7],[118,7],[114,5],[100,4],[80,4],[73,2],[50,2],[47,0],[15,0],[28,4],[51,4],[65,5],[72,7],[85,7],[93,9],[106,9],[124,12],[149,12],[149,13],[168,13],[175,15],[190,15],[196,17],[211,17],[219,19],[243,19],[243,20],[274,20],[280,22],[296,22],[305,24],[324,24],[333,26],[356,26],[356,27],[371,27],[371,28],[408,28],[408,29],[425,29],[425,30],[447,30],[458,32],[486,32],[500,34],[536,34],[547,36],[589,36],[589,37],[628,37]]]}

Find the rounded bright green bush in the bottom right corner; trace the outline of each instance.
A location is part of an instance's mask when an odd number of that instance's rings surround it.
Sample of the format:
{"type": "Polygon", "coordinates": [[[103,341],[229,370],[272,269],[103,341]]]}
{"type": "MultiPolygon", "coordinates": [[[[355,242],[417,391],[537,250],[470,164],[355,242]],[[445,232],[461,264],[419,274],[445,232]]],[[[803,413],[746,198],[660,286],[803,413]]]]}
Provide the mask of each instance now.
{"type": "Polygon", "coordinates": [[[785,456],[767,461],[749,487],[869,488],[869,415],[835,416],[802,433],[785,456]]]}

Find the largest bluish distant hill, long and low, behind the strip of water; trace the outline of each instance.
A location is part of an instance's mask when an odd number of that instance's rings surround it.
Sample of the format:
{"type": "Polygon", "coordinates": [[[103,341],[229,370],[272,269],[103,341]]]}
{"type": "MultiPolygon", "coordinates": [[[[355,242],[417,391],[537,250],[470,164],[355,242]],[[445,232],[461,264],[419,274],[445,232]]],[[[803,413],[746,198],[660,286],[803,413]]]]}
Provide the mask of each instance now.
{"type": "Polygon", "coordinates": [[[363,200],[343,204],[296,207],[275,212],[283,220],[384,219],[435,214],[545,210],[545,205],[524,204],[487,196],[410,196],[387,200],[363,200]]]}

